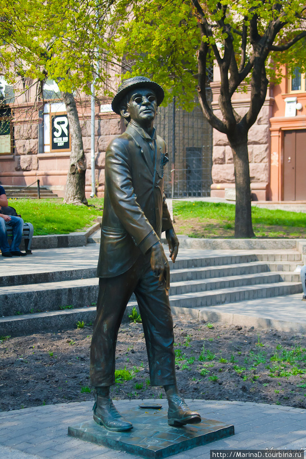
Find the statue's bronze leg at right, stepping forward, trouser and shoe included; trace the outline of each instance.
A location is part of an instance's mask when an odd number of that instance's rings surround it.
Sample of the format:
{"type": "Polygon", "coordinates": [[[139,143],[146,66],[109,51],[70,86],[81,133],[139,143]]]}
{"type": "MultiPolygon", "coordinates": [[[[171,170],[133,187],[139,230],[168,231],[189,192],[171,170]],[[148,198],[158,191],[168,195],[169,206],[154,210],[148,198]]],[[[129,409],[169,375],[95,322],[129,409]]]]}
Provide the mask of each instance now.
{"type": "Polygon", "coordinates": [[[151,386],[164,386],[168,399],[168,424],[181,426],[201,421],[189,410],[176,386],[173,322],[165,286],[149,265],[135,289],[145,335],[151,386]]]}

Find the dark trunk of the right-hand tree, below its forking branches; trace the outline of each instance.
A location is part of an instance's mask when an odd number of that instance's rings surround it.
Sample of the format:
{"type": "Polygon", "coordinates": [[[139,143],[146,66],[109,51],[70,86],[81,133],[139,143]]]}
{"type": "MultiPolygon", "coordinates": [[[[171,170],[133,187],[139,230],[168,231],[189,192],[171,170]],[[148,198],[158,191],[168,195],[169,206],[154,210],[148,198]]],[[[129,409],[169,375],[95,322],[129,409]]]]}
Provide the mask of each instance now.
{"type": "Polygon", "coordinates": [[[235,238],[255,237],[252,228],[250,170],[247,150],[247,135],[236,135],[228,138],[233,151],[236,209],[235,209],[235,238]]]}

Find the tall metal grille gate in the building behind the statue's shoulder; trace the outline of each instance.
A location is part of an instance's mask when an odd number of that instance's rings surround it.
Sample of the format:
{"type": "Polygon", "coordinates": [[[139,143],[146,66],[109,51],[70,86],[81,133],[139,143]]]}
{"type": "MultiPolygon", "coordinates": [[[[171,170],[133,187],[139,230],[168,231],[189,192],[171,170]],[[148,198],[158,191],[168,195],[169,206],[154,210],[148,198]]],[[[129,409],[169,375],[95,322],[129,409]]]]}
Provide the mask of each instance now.
{"type": "Polygon", "coordinates": [[[210,196],[213,130],[195,102],[192,112],[159,107],[157,134],[165,139],[169,163],[165,169],[165,194],[178,198],[210,196]]]}

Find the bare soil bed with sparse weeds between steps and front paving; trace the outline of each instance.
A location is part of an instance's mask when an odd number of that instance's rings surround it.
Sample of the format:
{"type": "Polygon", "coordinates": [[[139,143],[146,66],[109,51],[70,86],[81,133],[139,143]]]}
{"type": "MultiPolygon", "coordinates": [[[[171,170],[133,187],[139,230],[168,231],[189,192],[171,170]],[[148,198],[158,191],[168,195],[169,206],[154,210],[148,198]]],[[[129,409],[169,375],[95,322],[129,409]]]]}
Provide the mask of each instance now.
{"type": "MultiPolygon", "coordinates": [[[[304,335],[175,319],[176,371],[185,398],[306,407],[304,335]]],[[[0,411],[93,400],[89,380],[92,327],[4,339],[0,411]],[[90,392],[91,391],[91,392],[90,392]]],[[[141,324],[119,331],[113,398],[164,398],[149,386],[141,324]],[[128,376],[129,375],[129,376],[128,376]],[[124,378],[132,377],[130,380],[124,378]]]]}

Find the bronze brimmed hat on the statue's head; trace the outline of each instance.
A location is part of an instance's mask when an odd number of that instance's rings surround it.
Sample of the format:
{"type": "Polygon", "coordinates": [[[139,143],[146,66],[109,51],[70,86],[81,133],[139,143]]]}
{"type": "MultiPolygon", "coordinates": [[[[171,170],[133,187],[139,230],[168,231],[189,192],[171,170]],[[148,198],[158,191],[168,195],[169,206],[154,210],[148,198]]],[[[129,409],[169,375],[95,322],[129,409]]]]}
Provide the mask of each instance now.
{"type": "Polygon", "coordinates": [[[133,77],[127,80],[124,80],[123,83],[118,88],[118,92],[113,98],[112,109],[115,113],[120,115],[120,102],[123,97],[130,92],[132,89],[136,88],[149,88],[152,89],[157,97],[157,105],[160,105],[164,99],[165,93],[163,88],[155,83],[154,81],[149,80],[146,77],[133,77]]]}

